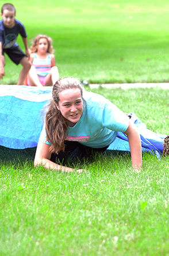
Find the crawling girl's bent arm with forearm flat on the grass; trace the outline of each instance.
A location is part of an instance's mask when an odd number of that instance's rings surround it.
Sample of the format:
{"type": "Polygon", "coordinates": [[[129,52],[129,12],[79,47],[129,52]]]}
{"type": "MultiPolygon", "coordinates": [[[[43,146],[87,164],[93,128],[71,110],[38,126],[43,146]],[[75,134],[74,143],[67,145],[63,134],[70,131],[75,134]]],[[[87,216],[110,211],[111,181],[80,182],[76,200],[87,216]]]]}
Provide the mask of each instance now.
{"type": "MultiPolygon", "coordinates": [[[[74,169],[57,165],[54,162],[50,161],[51,159],[51,152],[49,151],[50,145],[40,142],[37,145],[36,154],[34,157],[34,166],[43,165],[47,169],[52,170],[62,170],[64,172],[73,172],[74,169]]],[[[80,170],[77,170],[80,172],[80,170]]]]}

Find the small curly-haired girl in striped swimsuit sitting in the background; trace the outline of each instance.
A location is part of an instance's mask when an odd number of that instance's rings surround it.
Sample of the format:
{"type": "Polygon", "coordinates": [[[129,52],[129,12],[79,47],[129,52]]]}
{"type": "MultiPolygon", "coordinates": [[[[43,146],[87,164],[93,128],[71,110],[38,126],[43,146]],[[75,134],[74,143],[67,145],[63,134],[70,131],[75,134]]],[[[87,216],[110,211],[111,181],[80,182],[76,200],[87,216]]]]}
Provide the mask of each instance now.
{"type": "Polygon", "coordinates": [[[24,82],[28,86],[53,86],[59,79],[55,66],[52,39],[47,35],[37,35],[30,47],[30,62],[32,66],[24,82]]]}

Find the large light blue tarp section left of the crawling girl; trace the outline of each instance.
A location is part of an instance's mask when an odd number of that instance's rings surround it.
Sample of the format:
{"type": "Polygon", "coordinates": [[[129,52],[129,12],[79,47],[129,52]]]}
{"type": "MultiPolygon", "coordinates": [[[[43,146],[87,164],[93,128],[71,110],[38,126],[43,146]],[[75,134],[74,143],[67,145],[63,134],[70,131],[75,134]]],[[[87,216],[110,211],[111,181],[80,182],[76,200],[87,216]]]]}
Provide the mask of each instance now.
{"type": "Polygon", "coordinates": [[[0,145],[36,147],[43,127],[43,108],[52,87],[0,86],[0,145]]]}

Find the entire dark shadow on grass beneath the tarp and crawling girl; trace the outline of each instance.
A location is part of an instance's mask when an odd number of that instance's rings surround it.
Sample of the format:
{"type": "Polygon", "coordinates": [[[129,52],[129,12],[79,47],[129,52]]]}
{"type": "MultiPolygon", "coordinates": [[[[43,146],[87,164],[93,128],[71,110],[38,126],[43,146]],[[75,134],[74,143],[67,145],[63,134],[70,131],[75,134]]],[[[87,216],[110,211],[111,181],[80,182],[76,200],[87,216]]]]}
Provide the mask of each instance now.
{"type": "MultiPolygon", "coordinates": [[[[28,149],[9,149],[7,147],[0,146],[0,164],[9,166],[24,166],[27,162],[28,165],[33,167],[34,155],[36,153],[36,147],[28,149]]],[[[147,155],[151,156],[149,152],[143,153],[143,157],[147,155]]],[[[65,165],[76,169],[86,169],[86,166],[93,166],[101,164],[102,168],[105,168],[109,162],[130,162],[130,153],[124,151],[106,150],[103,154],[94,153],[90,157],[85,158],[67,158],[65,165]]],[[[60,162],[56,162],[61,164],[60,162]]],[[[111,167],[112,168],[112,167],[111,167]]]]}

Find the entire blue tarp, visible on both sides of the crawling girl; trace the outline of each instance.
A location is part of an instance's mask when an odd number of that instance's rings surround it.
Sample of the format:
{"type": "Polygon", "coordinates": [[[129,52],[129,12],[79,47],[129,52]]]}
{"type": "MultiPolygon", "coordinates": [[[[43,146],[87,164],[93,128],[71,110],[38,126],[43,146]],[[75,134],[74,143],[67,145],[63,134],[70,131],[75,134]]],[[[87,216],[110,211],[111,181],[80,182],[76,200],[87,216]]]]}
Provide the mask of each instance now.
{"type": "MultiPolygon", "coordinates": [[[[52,87],[0,85],[0,145],[10,149],[36,147],[43,127],[43,109],[51,97],[52,87]]],[[[159,157],[167,135],[150,131],[135,113],[130,114],[140,132],[142,151],[159,157]]],[[[107,150],[130,151],[126,135],[118,132],[107,150]]]]}

